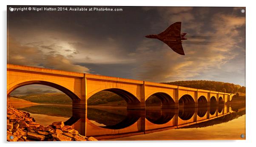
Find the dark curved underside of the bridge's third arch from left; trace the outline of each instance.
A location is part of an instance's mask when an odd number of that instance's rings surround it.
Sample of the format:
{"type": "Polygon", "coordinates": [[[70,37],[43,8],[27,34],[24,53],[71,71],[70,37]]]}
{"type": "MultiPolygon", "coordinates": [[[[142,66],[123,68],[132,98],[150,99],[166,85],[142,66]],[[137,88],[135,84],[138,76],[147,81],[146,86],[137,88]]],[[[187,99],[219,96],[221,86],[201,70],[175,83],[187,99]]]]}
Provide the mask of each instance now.
{"type": "MultiPolygon", "coordinates": [[[[156,92],[156,93],[151,94],[151,96],[154,96],[160,100],[162,109],[171,108],[171,107],[174,107],[174,105],[175,105],[174,99],[167,93],[156,92]]],[[[149,100],[149,98],[151,96],[149,96],[148,99],[145,101],[146,105],[147,105],[147,101],[149,100]]]]}

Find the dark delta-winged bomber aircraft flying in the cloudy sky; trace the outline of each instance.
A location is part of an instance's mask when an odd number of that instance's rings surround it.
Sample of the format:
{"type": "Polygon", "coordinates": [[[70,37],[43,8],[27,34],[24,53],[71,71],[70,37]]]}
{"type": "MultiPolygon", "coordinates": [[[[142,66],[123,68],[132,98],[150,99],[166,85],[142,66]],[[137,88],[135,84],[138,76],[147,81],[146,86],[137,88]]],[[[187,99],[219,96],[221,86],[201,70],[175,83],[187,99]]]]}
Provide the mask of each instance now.
{"type": "Polygon", "coordinates": [[[181,22],[176,22],[170,25],[165,31],[157,35],[147,35],[147,38],[155,38],[165,42],[172,50],[176,53],[185,55],[184,50],[182,48],[182,40],[187,40],[184,36],[187,33],[180,34],[181,30],[181,22]]]}

